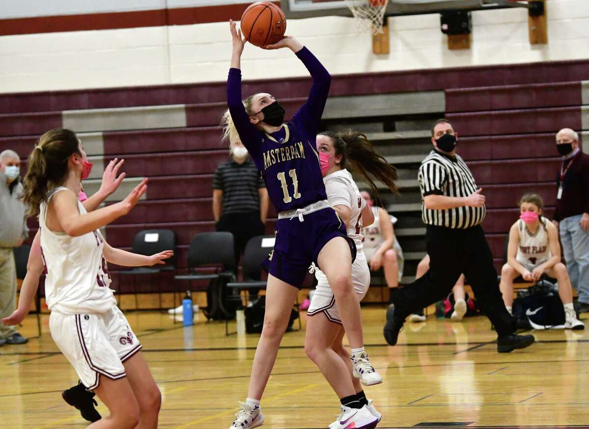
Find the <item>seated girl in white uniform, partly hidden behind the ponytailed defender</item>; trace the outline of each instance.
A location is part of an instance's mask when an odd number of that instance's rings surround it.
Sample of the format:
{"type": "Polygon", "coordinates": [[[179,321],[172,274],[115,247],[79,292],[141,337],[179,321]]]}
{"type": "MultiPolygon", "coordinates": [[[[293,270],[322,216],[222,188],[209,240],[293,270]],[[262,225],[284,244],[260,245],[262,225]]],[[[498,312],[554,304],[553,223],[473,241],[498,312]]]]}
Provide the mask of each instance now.
{"type": "Polygon", "coordinates": [[[364,237],[362,245],[370,270],[378,271],[382,267],[386,285],[389,288],[399,287],[405,260],[393,228],[397,218],[376,205],[375,196],[370,190],[363,189],[360,195],[366,200],[366,204],[372,209],[374,215],[374,223],[362,228],[360,232],[364,237]]]}

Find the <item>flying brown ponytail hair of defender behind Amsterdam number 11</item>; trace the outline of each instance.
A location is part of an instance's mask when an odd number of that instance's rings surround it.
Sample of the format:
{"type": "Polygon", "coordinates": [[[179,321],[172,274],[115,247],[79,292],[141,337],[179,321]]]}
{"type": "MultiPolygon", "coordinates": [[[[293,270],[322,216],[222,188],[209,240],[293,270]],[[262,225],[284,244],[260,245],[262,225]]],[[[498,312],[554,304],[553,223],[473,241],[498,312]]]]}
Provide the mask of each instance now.
{"type": "Polygon", "coordinates": [[[386,162],[384,156],[374,150],[365,134],[345,130],[337,134],[324,131],[319,135],[327,136],[333,140],[335,154],[342,155],[342,160],[339,163],[342,169],[346,168],[348,163],[358,169],[375,194],[378,194],[378,188],[370,175],[388,186],[395,195],[399,195],[399,189],[395,183],[395,180],[398,179],[397,169],[386,162]]]}

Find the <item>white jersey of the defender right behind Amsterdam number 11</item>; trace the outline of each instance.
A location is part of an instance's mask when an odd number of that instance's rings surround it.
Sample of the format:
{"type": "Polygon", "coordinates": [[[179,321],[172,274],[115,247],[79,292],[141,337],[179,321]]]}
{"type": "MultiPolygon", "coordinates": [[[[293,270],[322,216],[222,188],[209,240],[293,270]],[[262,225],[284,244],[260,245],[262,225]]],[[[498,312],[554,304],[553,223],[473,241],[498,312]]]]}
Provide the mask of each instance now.
{"type": "Polygon", "coordinates": [[[323,177],[327,200],[333,207],[346,206],[350,207],[350,226],[348,227],[348,237],[356,243],[356,250],[362,250],[362,209],[366,206],[366,201],[360,195],[360,190],[352,178],[350,172],[346,169],[336,171],[323,177]]]}

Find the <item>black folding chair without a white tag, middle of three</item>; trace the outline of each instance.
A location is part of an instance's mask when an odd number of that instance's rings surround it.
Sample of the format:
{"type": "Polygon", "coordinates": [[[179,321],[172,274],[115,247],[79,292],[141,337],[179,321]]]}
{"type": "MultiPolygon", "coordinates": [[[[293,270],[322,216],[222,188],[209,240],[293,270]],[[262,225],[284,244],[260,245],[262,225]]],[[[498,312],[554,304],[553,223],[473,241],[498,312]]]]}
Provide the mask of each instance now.
{"type": "MultiPolygon", "coordinates": [[[[196,234],[188,249],[188,274],[174,276],[174,280],[188,281],[188,290],[194,280],[212,280],[227,277],[235,280],[237,267],[233,247],[233,234],[230,232],[203,232],[196,234]],[[203,266],[216,265],[213,274],[201,274],[203,266]]],[[[174,287],[174,310],[176,309],[176,287],[174,287]]],[[[176,311],[174,311],[176,323],[176,311]]]]}

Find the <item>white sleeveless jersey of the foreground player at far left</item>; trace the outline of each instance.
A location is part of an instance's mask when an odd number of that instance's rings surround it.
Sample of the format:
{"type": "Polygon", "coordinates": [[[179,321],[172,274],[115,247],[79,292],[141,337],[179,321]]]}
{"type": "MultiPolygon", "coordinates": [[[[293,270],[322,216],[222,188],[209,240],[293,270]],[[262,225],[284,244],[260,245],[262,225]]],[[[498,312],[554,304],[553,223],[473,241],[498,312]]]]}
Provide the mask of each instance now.
{"type": "MultiPolygon", "coordinates": [[[[58,187],[48,195],[47,204],[57,192],[67,190],[58,187]]],[[[41,203],[39,226],[41,227],[41,254],[45,263],[45,297],[49,310],[66,314],[104,313],[117,305],[108,287],[111,283],[107,263],[102,255],[104,239],[99,230],[80,237],[55,233],[46,222],[47,204],[41,203]]],[[[86,209],[78,200],[78,210],[86,209]]]]}

